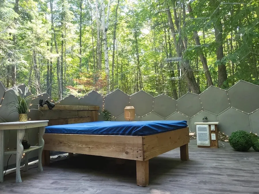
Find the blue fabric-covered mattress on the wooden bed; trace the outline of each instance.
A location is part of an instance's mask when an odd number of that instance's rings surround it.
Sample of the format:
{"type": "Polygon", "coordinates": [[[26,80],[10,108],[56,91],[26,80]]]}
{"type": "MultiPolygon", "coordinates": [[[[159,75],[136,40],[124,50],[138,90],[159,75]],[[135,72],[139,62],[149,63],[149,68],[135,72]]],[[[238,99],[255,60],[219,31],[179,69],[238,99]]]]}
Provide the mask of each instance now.
{"type": "Polygon", "coordinates": [[[187,127],[187,121],[97,121],[47,126],[45,133],[145,136],[187,127]]]}

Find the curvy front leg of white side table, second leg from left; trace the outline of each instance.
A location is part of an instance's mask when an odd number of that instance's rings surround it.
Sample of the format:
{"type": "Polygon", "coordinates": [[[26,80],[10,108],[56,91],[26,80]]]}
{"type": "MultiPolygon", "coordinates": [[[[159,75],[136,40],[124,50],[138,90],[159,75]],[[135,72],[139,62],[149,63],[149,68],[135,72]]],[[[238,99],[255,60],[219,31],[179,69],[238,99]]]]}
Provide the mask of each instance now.
{"type": "Polygon", "coordinates": [[[20,166],[21,166],[21,160],[22,160],[22,154],[23,154],[22,139],[24,137],[24,134],[25,134],[25,130],[24,129],[18,129],[17,130],[16,183],[22,183],[20,166]]]}

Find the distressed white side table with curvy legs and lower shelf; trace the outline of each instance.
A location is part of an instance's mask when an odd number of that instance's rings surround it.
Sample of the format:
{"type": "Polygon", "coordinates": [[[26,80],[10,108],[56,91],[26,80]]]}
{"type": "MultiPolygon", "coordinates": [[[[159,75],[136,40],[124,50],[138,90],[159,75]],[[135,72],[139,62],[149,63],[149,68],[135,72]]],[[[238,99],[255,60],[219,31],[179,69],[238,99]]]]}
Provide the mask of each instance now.
{"type": "MultiPolygon", "coordinates": [[[[44,146],[43,134],[45,133],[45,126],[48,125],[48,120],[41,121],[27,121],[27,122],[5,122],[0,123],[0,183],[3,182],[3,167],[4,155],[16,154],[16,183],[21,183],[20,163],[22,154],[39,149],[39,171],[43,171],[41,164],[41,155],[44,146]],[[25,134],[25,129],[39,128],[39,146],[31,146],[29,149],[23,149],[22,139],[25,134]],[[17,148],[5,151],[4,150],[4,130],[17,130],[17,148]]],[[[25,171],[28,170],[28,155],[25,156],[25,171]]]]}

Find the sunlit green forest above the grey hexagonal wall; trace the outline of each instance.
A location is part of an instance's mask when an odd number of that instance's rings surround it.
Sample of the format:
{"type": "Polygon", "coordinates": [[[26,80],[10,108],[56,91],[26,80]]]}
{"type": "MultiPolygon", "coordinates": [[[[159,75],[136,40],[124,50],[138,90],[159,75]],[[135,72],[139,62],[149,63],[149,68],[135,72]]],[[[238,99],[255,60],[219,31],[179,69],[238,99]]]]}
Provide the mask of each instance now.
{"type": "Polygon", "coordinates": [[[259,85],[258,0],[0,0],[0,81],[56,101],[259,85]]]}

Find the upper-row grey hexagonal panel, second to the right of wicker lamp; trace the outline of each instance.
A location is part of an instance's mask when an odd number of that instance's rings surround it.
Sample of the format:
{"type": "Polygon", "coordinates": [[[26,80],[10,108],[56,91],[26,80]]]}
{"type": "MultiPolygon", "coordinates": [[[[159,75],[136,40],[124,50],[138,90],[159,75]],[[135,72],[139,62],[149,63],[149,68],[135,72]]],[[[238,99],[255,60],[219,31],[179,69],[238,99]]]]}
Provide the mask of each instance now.
{"type": "Polygon", "coordinates": [[[170,98],[167,95],[159,95],[154,99],[154,112],[162,116],[163,118],[176,112],[176,100],[170,98]]]}

